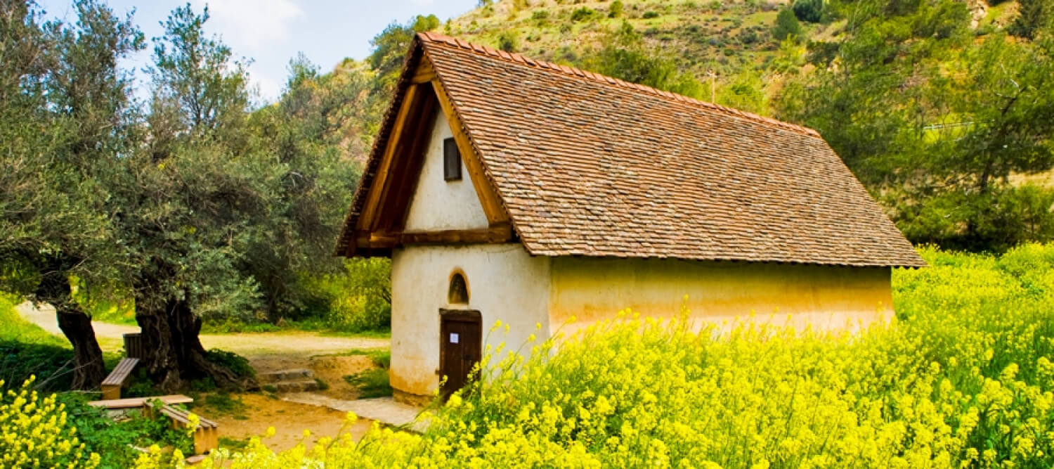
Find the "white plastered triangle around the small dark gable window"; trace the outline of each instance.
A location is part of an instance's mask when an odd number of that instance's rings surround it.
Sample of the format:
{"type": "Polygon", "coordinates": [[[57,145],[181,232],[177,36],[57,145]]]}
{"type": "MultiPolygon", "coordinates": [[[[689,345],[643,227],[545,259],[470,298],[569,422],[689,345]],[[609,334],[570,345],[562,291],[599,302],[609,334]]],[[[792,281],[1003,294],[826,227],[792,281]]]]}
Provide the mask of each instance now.
{"type": "Polygon", "coordinates": [[[472,230],[489,226],[464,157],[461,180],[447,181],[443,177],[443,140],[452,136],[446,115],[437,112],[425,165],[407,213],[407,231],[472,230]]]}

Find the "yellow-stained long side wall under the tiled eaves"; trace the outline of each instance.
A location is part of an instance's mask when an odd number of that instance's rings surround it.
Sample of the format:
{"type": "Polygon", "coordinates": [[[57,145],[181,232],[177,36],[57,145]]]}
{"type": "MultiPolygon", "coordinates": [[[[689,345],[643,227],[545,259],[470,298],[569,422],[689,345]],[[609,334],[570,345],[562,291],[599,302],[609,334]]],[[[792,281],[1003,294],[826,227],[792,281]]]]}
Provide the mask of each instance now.
{"type": "Polygon", "coordinates": [[[559,257],[552,259],[549,324],[555,331],[577,316],[563,329],[568,332],[626,308],[676,317],[686,306],[697,327],[730,327],[739,318],[856,330],[893,317],[890,275],[889,268],[559,257]]]}

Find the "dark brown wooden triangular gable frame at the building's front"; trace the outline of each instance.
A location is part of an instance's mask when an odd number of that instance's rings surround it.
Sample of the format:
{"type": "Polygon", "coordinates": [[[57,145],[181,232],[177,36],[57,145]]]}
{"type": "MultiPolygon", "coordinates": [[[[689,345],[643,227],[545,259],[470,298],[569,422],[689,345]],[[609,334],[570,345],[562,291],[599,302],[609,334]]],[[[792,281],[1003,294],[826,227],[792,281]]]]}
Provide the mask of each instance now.
{"type": "Polygon", "coordinates": [[[337,246],[338,255],[389,255],[392,248],[408,243],[505,242],[512,238],[508,214],[419,47],[415,41],[355,194],[337,246]],[[460,201],[475,204],[469,212],[483,211],[486,222],[482,226],[477,217],[461,226],[442,227],[424,222],[422,217],[407,224],[418,180],[425,176],[422,173],[428,150],[435,145],[442,149],[442,142],[432,141],[437,121],[446,123],[462,155],[465,177],[462,183],[452,185],[458,187],[460,201]],[[466,188],[476,194],[475,200],[464,197],[466,188]]]}

